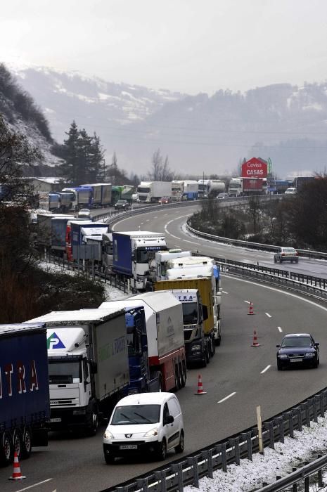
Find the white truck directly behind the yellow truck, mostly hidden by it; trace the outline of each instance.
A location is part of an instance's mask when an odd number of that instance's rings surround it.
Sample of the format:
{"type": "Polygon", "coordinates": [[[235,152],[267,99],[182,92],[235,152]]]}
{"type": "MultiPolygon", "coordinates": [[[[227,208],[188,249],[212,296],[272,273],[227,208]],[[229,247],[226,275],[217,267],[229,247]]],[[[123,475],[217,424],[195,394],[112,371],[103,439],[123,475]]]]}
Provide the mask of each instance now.
{"type": "Polygon", "coordinates": [[[214,318],[214,342],[220,345],[222,339],[221,304],[222,287],[220,272],[214,259],[209,257],[185,257],[167,261],[166,280],[210,278],[212,310],[214,318]]]}

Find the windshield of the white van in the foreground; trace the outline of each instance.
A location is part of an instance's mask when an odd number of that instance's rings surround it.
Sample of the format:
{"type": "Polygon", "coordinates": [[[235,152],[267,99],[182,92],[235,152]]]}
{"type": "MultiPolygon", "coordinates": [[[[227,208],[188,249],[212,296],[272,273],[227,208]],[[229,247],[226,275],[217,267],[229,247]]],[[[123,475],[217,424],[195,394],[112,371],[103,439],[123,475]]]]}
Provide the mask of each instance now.
{"type": "Polygon", "coordinates": [[[156,424],[159,420],[160,405],[118,406],[111,425],[156,424]]]}

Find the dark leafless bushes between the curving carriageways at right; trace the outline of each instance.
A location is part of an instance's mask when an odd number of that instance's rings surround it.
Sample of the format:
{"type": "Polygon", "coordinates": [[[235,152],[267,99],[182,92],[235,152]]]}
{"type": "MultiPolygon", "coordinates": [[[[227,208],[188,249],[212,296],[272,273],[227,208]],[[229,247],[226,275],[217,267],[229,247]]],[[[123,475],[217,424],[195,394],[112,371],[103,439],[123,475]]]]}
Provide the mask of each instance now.
{"type": "Polygon", "coordinates": [[[271,195],[269,202],[251,197],[248,203],[225,205],[203,200],[189,224],[225,238],[327,252],[327,174],[317,174],[297,195],[271,195]]]}

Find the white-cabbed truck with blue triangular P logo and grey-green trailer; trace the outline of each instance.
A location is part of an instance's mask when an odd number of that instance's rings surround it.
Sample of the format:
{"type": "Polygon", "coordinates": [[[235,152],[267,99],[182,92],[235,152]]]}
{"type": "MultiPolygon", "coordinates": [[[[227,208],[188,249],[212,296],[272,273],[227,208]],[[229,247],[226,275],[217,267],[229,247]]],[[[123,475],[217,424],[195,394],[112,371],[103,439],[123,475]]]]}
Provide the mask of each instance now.
{"type": "Polygon", "coordinates": [[[129,384],[124,309],[53,311],[27,323],[45,323],[50,427],[96,434],[129,384]]]}

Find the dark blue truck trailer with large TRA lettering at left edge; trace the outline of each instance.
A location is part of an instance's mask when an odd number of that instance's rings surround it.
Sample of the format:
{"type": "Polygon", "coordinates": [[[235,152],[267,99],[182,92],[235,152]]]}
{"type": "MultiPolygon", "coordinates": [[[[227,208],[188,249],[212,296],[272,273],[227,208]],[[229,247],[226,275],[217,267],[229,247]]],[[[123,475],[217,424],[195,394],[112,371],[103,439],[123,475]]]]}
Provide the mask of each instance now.
{"type": "Polygon", "coordinates": [[[50,417],[46,328],[43,323],[0,325],[0,463],[28,458],[48,445],[50,417]]]}

